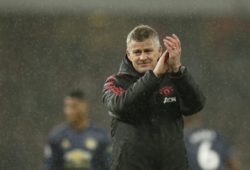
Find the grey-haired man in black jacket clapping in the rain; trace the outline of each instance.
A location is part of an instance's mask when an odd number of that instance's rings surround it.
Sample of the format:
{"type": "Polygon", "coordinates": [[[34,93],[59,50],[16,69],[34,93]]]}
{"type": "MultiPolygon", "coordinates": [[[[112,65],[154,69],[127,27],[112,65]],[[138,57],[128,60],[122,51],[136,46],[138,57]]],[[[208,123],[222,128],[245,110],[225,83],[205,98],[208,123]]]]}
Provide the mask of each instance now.
{"type": "Polygon", "coordinates": [[[199,112],[204,97],[181,64],[181,42],[135,27],[127,37],[120,70],[104,85],[103,102],[112,116],[112,170],[185,170],[183,119],[199,112]]]}

